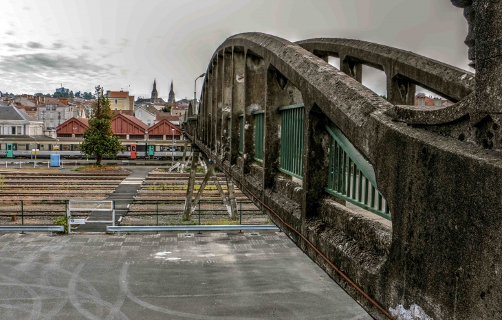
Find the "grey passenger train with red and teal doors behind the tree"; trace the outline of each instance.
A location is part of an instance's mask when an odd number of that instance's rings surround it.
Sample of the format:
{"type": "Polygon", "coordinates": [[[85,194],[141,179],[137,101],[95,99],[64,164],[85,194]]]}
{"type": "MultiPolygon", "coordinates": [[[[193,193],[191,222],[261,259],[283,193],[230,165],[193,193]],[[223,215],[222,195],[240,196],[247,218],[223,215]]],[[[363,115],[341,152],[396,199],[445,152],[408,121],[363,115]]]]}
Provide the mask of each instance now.
{"type": "MultiPolygon", "coordinates": [[[[0,158],[6,159],[49,159],[50,155],[61,155],[62,159],[84,159],[87,155],[80,153],[82,138],[57,138],[41,136],[0,136],[0,158]],[[38,150],[34,152],[34,150],[38,150]]],[[[118,159],[181,159],[185,141],[179,140],[120,140],[124,152],[119,152],[118,159]]],[[[186,157],[190,155],[191,145],[188,141],[186,157]]],[[[93,157],[89,157],[92,159],[93,157]]],[[[105,158],[106,159],[106,158],[105,158]]]]}

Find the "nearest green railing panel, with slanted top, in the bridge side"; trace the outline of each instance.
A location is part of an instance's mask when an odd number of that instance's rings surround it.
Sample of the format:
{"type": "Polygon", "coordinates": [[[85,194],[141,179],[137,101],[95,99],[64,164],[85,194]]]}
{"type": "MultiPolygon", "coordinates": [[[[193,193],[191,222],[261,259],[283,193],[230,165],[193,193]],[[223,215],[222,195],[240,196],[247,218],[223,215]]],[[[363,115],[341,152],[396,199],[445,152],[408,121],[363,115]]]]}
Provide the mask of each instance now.
{"type": "Polygon", "coordinates": [[[329,139],[326,192],[391,220],[389,206],[378,191],[375,170],[336,126],[326,126],[329,139]]]}

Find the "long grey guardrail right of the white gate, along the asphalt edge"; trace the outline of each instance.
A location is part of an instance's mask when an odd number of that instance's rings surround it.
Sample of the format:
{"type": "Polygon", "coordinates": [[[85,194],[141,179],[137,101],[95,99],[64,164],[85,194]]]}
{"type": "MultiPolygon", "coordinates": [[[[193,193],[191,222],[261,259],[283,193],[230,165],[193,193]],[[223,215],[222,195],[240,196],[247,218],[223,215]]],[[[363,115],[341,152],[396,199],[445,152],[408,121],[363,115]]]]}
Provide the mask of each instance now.
{"type": "Polygon", "coordinates": [[[107,226],[107,231],[117,232],[120,231],[237,231],[237,230],[276,230],[279,227],[276,225],[116,225],[107,226]]]}

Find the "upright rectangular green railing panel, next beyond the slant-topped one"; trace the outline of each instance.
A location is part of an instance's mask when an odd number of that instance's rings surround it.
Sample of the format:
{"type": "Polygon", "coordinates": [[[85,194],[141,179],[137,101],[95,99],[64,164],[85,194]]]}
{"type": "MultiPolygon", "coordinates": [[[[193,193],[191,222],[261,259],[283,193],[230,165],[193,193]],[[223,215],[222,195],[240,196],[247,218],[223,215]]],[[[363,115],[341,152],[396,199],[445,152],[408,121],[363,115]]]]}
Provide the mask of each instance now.
{"type": "Polygon", "coordinates": [[[303,119],[305,106],[281,106],[281,165],[279,170],[298,179],[303,175],[303,119]]]}

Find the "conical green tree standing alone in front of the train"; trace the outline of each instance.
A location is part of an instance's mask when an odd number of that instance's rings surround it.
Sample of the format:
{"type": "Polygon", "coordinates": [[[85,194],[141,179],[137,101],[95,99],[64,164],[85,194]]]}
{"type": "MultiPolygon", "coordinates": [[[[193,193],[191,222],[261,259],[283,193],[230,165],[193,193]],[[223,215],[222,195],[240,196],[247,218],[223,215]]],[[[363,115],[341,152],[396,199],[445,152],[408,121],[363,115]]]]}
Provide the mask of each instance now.
{"type": "Polygon", "coordinates": [[[89,119],[89,128],[84,131],[84,141],[80,152],[91,156],[96,156],[96,165],[101,164],[103,156],[117,157],[118,152],[123,151],[124,147],[118,137],[113,136],[111,130],[110,102],[103,94],[102,87],[96,87],[98,101],[92,106],[92,115],[89,119]]]}

